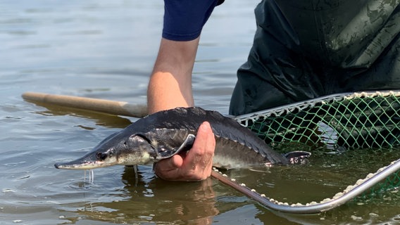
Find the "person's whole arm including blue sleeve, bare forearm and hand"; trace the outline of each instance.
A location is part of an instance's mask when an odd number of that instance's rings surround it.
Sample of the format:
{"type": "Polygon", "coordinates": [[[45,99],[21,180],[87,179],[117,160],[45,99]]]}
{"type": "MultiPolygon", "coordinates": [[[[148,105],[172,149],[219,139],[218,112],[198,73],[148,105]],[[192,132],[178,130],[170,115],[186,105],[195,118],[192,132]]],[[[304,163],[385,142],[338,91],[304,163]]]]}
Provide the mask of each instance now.
{"type": "MultiPolygon", "coordinates": [[[[221,1],[222,2],[222,1],[221,1]]],[[[164,0],[163,39],[147,91],[149,113],[194,106],[192,70],[202,27],[218,0],[164,0]]],[[[156,175],[198,181],[211,175],[215,137],[208,122],[199,127],[192,149],[154,165],[156,175]]]]}

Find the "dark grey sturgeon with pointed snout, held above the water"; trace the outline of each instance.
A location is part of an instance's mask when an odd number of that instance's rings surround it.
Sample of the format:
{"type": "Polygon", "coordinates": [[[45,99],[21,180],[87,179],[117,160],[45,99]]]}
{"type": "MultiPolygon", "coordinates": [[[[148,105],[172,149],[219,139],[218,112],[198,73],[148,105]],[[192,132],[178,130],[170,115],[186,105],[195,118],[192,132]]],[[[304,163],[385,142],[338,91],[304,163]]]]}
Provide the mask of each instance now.
{"type": "Polygon", "coordinates": [[[201,108],[175,108],[144,117],[108,136],[84,157],[59,163],[60,169],[93,169],[111,165],[144,165],[189,150],[204,121],[215,134],[213,165],[233,168],[288,163],[246,127],[230,117],[201,108]]]}

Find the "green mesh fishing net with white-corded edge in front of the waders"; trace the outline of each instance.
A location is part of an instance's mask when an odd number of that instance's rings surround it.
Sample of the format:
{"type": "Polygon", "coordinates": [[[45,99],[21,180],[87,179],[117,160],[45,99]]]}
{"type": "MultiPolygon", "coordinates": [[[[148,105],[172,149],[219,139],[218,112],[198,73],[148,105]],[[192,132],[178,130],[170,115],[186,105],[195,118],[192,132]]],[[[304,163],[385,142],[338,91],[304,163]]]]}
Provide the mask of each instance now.
{"type": "MultiPolygon", "coordinates": [[[[235,117],[275,150],[393,149],[400,144],[400,91],[335,94],[235,117]]],[[[364,195],[400,186],[400,171],[364,195]]]]}

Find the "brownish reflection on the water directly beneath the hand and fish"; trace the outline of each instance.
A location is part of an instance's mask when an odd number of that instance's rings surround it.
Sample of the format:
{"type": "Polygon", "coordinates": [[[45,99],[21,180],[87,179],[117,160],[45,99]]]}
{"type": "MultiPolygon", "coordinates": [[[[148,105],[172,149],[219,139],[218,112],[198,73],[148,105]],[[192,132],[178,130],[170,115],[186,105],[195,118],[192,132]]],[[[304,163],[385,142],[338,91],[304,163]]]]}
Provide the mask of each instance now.
{"type": "Polygon", "coordinates": [[[122,180],[125,184],[125,200],[94,203],[92,209],[81,212],[86,217],[118,223],[137,221],[174,221],[175,223],[193,222],[195,224],[211,224],[213,216],[218,214],[215,207],[213,181],[187,183],[165,182],[154,179],[149,167],[139,174],[139,182],[135,179],[133,169],[126,167],[122,180]]]}

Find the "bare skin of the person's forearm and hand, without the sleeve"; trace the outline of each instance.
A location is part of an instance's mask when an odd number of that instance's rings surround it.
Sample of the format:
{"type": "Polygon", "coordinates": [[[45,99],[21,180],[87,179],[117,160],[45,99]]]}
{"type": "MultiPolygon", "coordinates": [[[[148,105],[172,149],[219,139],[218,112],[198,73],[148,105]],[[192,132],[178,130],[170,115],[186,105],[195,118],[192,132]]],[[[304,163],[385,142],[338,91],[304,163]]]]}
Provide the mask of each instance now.
{"type": "MultiPolygon", "coordinates": [[[[192,70],[199,38],[192,41],[162,39],[147,91],[149,113],[194,106],[192,70]]],[[[154,166],[156,175],[171,181],[199,181],[211,175],[215,137],[210,124],[199,127],[191,150],[154,166]]]]}

